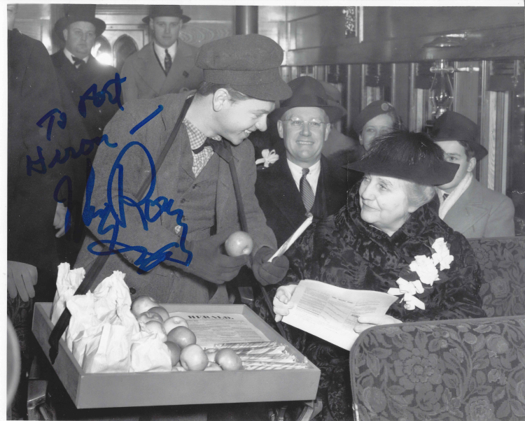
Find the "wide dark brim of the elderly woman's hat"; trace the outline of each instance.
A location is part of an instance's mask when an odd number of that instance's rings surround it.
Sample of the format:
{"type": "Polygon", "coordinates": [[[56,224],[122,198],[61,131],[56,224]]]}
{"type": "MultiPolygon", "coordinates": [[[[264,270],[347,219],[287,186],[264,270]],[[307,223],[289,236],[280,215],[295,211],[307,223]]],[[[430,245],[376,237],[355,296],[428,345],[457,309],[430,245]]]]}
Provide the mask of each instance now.
{"type": "Polygon", "coordinates": [[[382,160],[377,157],[364,157],[360,161],[346,164],[346,169],[361,173],[377,174],[378,176],[401,178],[421,185],[444,185],[454,180],[458,164],[440,162],[439,166],[429,168],[425,165],[407,165],[382,160]]]}

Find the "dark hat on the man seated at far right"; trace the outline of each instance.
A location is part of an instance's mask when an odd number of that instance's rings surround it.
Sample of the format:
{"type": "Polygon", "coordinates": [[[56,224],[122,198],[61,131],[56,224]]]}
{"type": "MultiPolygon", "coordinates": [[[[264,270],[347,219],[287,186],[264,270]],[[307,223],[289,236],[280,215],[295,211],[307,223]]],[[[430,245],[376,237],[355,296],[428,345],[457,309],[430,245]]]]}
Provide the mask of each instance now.
{"type": "Polygon", "coordinates": [[[474,151],[476,160],[485,157],[487,151],[478,141],[479,130],[477,124],[459,113],[446,111],[435,120],[432,128],[432,140],[440,141],[465,141],[474,151]]]}

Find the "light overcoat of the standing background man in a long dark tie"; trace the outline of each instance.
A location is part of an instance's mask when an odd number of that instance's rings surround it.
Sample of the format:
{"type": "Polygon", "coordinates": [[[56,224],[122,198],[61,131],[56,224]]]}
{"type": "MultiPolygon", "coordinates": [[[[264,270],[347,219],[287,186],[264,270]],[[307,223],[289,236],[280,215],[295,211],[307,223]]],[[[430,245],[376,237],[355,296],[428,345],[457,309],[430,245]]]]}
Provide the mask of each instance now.
{"type": "Polygon", "coordinates": [[[167,76],[155,55],[153,42],[130,55],[122,68],[122,77],[126,78],[123,83],[124,101],[177,94],[182,88],[196,89],[202,81],[202,70],[195,66],[198,50],[179,39],[167,76]]]}

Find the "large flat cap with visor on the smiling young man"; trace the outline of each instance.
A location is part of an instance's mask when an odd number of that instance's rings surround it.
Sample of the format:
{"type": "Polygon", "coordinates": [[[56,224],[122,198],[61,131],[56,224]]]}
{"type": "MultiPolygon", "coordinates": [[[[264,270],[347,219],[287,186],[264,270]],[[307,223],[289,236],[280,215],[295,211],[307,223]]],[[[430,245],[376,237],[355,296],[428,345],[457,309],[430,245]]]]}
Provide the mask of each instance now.
{"type": "Polygon", "coordinates": [[[235,35],[202,45],[195,65],[209,83],[233,89],[263,101],[281,101],[292,90],[281,78],[283,49],[259,34],[235,35]]]}

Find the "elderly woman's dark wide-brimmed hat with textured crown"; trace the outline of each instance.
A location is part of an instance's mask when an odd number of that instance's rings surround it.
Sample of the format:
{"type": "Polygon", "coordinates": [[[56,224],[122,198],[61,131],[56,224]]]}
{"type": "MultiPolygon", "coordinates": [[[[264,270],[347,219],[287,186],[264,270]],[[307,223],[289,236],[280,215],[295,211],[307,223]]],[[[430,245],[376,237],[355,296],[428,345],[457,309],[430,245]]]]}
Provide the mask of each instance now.
{"type": "Polygon", "coordinates": [[[426,134],[396,130],[377,138],[363,158],[346,168],[421,185],[444,185],[454,180],[459,166],[446,162],[426,134]]]}

